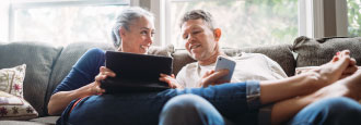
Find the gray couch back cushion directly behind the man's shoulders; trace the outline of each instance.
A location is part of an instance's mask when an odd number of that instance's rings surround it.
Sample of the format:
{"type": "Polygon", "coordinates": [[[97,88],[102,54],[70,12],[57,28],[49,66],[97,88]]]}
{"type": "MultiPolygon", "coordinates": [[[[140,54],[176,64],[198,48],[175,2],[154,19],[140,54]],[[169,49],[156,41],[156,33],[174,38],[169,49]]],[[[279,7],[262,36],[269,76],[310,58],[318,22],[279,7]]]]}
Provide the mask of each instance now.
{"type": "MultiPolygon", "coordinates": [[[[242,52],[263,53],[281,65],[288,76],[294,75],[295,60],[291,51],[291,45],[264,46],[240,49],[222,49],[230,57],[241,55],[242,52]]],[[[173,73],[176,75],[183,66],[196,62],[186,50],[176,50],[173,54],[173,73]]],[[[261,71],[260,71],[261,72],[261,71]]]]}

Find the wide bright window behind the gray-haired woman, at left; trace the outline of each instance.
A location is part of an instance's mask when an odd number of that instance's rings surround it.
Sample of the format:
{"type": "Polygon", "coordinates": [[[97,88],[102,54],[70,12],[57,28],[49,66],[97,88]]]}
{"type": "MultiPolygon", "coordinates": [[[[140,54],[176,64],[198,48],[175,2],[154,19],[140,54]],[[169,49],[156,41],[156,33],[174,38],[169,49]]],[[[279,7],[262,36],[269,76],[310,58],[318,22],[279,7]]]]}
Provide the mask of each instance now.
{"type": "Polygon", "coordinates": [[[129,0],[15,2],[10,12],[10,40],[45,41],[55,46],[108,42],[116,12],[129,4],[129,0]]]}

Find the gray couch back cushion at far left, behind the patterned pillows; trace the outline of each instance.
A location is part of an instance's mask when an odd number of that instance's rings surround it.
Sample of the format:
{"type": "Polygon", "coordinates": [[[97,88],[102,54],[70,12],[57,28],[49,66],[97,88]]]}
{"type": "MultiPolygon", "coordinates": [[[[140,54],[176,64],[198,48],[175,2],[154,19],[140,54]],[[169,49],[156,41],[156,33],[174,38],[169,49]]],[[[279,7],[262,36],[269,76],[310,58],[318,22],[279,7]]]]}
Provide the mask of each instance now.
{"type": "Polygon", "coordinates": [[[40,116],[51,67],[61,49],[44,42],[0,43],[0,68],[26,64],[24,98],[40,116]]]}

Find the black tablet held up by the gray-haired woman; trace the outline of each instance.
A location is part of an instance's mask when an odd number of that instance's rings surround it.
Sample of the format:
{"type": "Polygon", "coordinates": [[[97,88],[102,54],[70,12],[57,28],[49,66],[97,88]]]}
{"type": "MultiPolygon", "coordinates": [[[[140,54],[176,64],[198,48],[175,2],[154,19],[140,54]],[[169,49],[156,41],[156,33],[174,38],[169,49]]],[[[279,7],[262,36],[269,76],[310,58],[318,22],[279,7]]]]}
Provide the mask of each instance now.
{"type": "Polygon", "coordinates": [[[102,82],[101,87],[106,92],[162,90],[167,89],[168,85],[159,80],[160,74],[172,74],[173,59],[106,51],[105,66],[116,73],[116,77],[108,77],[102,82]]]}

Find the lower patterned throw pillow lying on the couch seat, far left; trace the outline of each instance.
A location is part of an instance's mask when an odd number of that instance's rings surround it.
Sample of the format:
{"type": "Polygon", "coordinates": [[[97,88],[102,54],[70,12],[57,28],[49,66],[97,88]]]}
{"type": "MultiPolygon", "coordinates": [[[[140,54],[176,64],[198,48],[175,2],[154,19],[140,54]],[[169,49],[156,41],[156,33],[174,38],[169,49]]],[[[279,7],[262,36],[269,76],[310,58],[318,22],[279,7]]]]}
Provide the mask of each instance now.
{"type": "Polygon", "coordinates": [[[38,116],[36,110],[23,98],[0,91],[0,120],[31,120],[38,116]]]}

